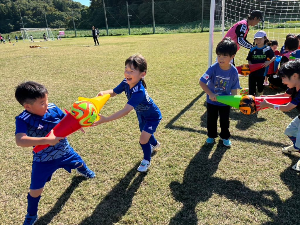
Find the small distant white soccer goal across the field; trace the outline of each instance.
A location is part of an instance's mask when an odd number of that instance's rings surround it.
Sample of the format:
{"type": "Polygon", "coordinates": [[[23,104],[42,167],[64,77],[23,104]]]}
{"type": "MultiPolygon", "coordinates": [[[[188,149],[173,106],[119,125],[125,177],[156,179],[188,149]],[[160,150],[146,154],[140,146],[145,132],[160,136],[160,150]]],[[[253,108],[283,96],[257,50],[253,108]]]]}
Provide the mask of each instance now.
{"type": "Polygon", "coordinates": [[[21,33],[24,42],[31,42],[30,35],[32,35],[33,41],[44,41],[44,34],[47,41],[54,41],[50,28],[21,28],[21,33]]]}

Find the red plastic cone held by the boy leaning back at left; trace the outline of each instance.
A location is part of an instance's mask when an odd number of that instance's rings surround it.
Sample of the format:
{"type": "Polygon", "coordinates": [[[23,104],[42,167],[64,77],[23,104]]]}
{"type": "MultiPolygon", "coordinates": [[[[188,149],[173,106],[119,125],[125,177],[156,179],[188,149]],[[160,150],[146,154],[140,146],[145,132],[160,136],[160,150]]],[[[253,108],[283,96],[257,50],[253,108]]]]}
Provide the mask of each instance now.
{"type": "MultiPolygon", "coordinates": [[[[81,128],[81,125],[76,118],[65,110],[67,115],[53,128],[53,134],[56,137],[67,137],[81,128]]],[[[50,132],[46,135],[48,137],[50,132]]],[[[45,149],[50,145],[37,145],[33,148],[35,153],[45,149]]]]}

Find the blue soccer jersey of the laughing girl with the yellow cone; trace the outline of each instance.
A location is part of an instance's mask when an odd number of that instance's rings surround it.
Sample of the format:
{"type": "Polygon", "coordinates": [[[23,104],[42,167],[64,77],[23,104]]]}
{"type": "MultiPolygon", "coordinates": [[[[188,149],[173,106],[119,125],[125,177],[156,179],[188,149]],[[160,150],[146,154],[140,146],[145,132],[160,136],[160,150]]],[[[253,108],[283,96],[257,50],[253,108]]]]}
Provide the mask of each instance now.
{"type": "MultiPolygon", "coordinates": [[[[142,81],[139,81],[134,87],[130,88],[126,78],[116,86],[113,91],[116,94],[121,94],[125,91],[125,95],[128,99],[127,104],[134,107],[137,113],[143,113],[150,116],[152,113],[160,114],[158,107],[154,101],[148,95],[147,90],[144,88],[142,81]]],[[[154,115],[152,115],[154,116],[154,115]]]]}

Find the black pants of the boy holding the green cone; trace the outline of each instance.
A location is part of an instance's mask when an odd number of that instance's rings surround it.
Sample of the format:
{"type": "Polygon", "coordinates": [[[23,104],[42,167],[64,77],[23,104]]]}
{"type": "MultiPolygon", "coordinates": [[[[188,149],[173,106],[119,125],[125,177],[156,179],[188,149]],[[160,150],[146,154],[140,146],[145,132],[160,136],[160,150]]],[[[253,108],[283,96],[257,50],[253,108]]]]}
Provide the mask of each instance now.
{"type": "Polygon", "coordinates": [[[228,139],[230,137],[229,132],[229,112],[230,106],[217,106],[207,103],[207,133],[208,137],[218,137],[217,122],[218,115],[220,116],[220,138],[228,139]]]}

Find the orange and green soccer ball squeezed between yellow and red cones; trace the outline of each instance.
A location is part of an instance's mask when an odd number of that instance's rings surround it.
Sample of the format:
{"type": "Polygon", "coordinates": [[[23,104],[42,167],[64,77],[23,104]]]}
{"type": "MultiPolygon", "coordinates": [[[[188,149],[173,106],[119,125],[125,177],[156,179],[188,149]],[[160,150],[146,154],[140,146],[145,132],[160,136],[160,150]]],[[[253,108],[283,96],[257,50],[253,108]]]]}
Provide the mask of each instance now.
{"type": "Polygon", "coordinates": [[[76,101],[70,108],[72,114],[83,127],[91,126],[97,118],[97,110],[90,101],[76,101]]]}

